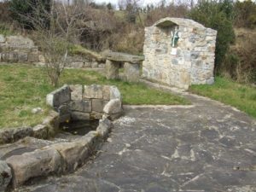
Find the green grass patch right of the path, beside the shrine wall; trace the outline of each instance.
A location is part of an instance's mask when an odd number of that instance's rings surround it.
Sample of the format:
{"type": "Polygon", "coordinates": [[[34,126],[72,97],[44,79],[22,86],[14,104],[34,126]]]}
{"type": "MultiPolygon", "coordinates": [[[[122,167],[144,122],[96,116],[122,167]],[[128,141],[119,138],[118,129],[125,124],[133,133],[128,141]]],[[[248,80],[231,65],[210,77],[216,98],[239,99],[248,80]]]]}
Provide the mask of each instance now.
{"type": "Polygon", "coordinates": [[[228,104],[256,118],[256,88],[217,77],[212,85],[192,85],[191,92],[228,104]]]}

